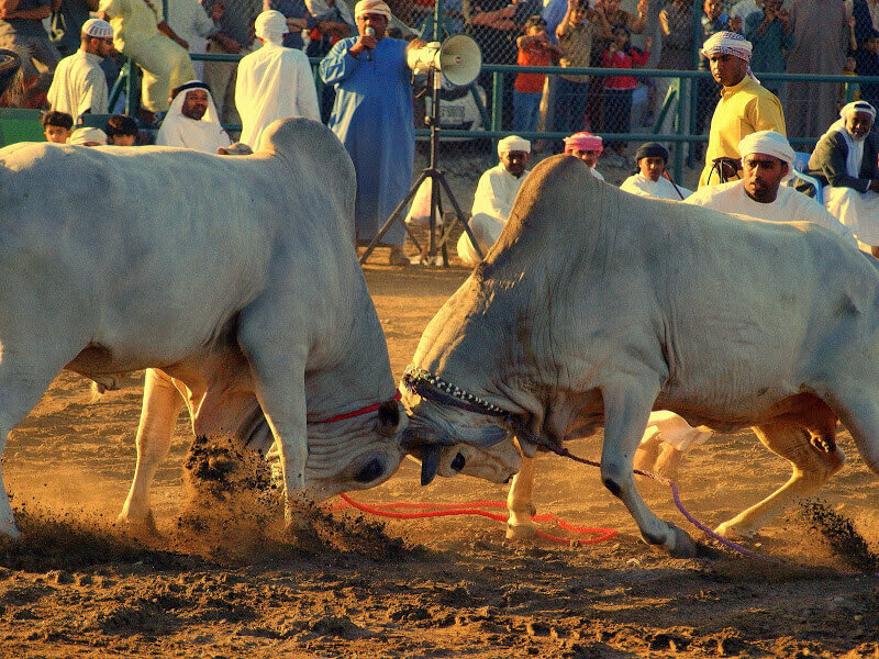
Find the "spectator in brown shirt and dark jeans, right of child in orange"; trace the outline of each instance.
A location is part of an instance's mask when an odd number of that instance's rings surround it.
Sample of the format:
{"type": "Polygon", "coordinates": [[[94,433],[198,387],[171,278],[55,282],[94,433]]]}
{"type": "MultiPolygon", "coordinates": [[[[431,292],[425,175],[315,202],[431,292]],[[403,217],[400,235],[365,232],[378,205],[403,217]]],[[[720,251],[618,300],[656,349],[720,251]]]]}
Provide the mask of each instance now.
{"type": "MultiPolygon", "coordinates": [[[[604,23],[598,19],[588,20],[587,7],[588,0],[568,0],[568,11],[556,29],[563,68],[587,68],[593,40],[604,35],[604,23]]],[[[558,76],[553,131],[577,133],[583,130],[589,79],[583,75],[558,76]]]]}

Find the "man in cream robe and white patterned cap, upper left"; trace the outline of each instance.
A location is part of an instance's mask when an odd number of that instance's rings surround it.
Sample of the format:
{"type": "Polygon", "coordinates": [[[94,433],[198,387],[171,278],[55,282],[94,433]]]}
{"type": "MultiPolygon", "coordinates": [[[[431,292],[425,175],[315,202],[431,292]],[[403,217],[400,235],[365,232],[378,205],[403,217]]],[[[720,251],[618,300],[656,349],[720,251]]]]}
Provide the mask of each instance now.
{"type": "Polygon", "coordinates": [[[101,62],[113,53],[113,27],[89,19],[82,24],[79,51],[65,57],[55,69],[47,100],[53,110],[78,120],[82,114],[107,113],[107,78],[101,62]]]}

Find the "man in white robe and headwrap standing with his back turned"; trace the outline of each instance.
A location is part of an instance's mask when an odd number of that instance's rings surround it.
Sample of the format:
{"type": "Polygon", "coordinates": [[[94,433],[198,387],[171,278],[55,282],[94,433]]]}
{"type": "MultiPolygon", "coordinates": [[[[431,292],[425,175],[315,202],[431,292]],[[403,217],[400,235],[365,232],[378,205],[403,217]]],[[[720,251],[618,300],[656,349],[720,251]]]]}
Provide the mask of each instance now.
{"type": "Polygon", "coordinates": [[[263,46],[238,63],[235,105],[241,114],[241,141],[256,149],[272,121],[287,116],[321,121],[321,111],[309,58],[302,51],[281,45],[289,32],[283,14],[264,11],[256,16],[254,29],[263,46]]]}

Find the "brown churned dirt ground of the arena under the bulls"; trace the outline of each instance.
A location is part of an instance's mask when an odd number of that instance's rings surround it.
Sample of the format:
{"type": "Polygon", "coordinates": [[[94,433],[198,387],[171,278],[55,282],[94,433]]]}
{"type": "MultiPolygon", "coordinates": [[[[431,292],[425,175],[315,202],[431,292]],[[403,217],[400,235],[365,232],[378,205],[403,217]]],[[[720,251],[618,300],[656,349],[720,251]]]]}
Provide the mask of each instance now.
{"type": "MultiPolygon", "coordinates": [[[[366,275],[399,378],[467,273],[391,269],[383,258],[379,250],[366,275]]],[[[113,521],[134,468],[141,380],[92,403],[88,383],[63,373],[13,433],[4,469],[25,535],[0,541],[0,657],[879,658],[879,482],[847,433],[849,461],[823,499],[747,543],[763,559],[724,550],[679,560],[639,541],[596,469],[555,457],[539,465],[538,512],[619,535],[511,545],[501,523],[482,517],[335,512],[318,522],[324,549],[307,551],[274,530],[199,529],[178,522],[191,443],[181,417],[154,492],[162,538],[138,541],[113,521]]],[[[600,437],[570,448],[598,459],[600,437]]],[[[418,474],[404,461],[354,499],[507,495],[465,477],[422,489],[418,474]]],[[[689,510],[716,525],[788,474],[748,432],[693,450],[679,484],[689,510]]],[[[639,487],[655,511],[699,535],[665,487],[639,487]]],[[[270,509],[253,518],[265,523],[270,509]]]]}

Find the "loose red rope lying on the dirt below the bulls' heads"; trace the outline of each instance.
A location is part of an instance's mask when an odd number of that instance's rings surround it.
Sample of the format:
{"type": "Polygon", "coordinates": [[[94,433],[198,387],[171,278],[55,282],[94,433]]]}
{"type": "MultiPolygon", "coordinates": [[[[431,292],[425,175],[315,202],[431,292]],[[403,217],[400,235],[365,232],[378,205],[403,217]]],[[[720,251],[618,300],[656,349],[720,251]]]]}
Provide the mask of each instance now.
{"type": "MultiPolygon", "coordinates": [[[[501,501],[472,501],[465,504],[398,502],[398,503],[382,503],[376,506],[370,506],[354,501],[347,494],[341,494],[340,496],[345,503],[337,503],[333,505],[330,510],[336,511],[346,507],[346,505],[349,505],[354,509],[357,509],[360,512],[368,513],[370,515],[378,515],[379,517],[390,517],[391,520],[423,520],[426,517],[449,517],[453,515],[477,515],[479,517],[488,517],[489,520],[494,520],[496,522],[503,522],[503,523],[507,523],[507,521],[509,520],[508,515],[490,513],[488,511],[481,510],[487,507],[507,509],[507,504],[501,501]],[[426,512],[416,512],[416,513],[392,512],[398,509],[410,509],[410,510],[421,510],[421,511],[425,511],[425,509],[429,510],[426,510],[426,512]]],[[[569,524],[568,522],[565,522],[560,517],[552,514],[534,515],[532,516],[532,521],[555,522],[555,524],[559,528],[563,528],[565,530],[569,530],[571,533],[577,533],[580,535],[596,536],[593,538],[576,538],[571,540],[570,538],[554,536],[548,533],[544,533],[543,530],[536,532],[536,534],[542,538],[546,538],[547,540],[565,545],[568,545],[571,541],[578,543],[580,545],[603,543],[604,540],[610,540],[612,537],[616,535],[615,528],[601,528],[601,527],[593,528],[589,526],[575,526],[574,524],[569,524]]]]}

